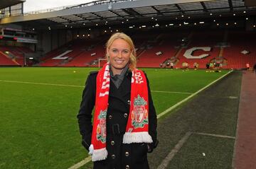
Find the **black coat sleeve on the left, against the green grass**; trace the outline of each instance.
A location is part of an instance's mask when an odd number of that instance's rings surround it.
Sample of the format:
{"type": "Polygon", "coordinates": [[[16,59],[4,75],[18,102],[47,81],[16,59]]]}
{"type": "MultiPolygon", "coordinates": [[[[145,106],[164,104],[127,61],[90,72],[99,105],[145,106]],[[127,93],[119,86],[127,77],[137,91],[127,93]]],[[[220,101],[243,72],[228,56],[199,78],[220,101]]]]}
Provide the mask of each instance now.
{"type": "Polygon", "coordinates": [[[78,124],[82,135],[82,145],[88,150],[92,137],[92,110],[95,106],[96,78],[90,74],[82,92],[82,101],[78,113],[78,124]],[[94,84],[94,85],[93,85],[94,84]]]}

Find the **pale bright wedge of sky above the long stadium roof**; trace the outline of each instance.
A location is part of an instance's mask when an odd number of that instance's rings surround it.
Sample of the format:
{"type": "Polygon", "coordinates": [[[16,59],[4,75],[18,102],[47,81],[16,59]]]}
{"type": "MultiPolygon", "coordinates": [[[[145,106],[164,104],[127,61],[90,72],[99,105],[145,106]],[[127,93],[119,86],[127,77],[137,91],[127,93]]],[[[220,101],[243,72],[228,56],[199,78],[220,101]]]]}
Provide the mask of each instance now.
{"type": "Polygon", "coordinates": [[[37,11],[58,6],[85,4],[90,1],[92,0],[26,0],[24,3],[24,12],[26,13],[28,11],[37,11]]]}

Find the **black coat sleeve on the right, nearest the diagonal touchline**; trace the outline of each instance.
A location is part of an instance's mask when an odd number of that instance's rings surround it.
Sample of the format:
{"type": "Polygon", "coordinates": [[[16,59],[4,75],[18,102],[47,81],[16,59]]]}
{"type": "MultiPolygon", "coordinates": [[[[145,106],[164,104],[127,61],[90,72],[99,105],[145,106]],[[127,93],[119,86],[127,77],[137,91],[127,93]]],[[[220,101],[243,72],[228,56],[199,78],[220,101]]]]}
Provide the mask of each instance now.
{"type": "MultiPolygon", "coordinates": [[[[145,74],[146,75],[146,74],[145,74]]],[[[149,135],[151,136],[153,143],[149,144],[149,153],[153,151],[154,148],[156,148],[158,144],[157,140],[157,117],[156,117],[156,109],[154,107],[154,103],[151,96],[151,91],[149,87],[149,79],[146,77],[146,83],[148,86],[148,93],[149,93],[149,135]]]]}

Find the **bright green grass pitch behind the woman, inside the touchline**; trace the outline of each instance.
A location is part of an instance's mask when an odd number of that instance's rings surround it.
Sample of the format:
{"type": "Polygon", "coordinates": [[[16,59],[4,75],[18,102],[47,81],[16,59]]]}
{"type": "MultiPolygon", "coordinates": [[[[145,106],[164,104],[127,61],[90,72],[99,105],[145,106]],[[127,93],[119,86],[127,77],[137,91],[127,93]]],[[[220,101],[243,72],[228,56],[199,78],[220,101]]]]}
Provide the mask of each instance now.
{"type": "MultiPolygon", "coordinates": [[[[69,168],[87,156],[76,115],[93,70],[0,68],[0,168],[69,168]]],[[[158,114],[228,72],[143,70],[158,114]]]]}

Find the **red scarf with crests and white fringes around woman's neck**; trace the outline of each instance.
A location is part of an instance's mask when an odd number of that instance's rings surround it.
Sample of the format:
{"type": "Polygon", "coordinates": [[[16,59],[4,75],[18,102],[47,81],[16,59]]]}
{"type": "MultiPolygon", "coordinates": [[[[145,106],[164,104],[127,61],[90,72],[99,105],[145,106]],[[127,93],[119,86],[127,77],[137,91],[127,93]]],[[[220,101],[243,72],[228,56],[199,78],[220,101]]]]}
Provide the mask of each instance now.
{"type": "MultiPolygon", "coordinates": [[[[152,143],[149,135],[149,97],[146,76],[143,71],[132,71],[131,104],[123,144],[152,143]]],[[[105,64],[97,74],[95,115],[92,128],[92,143],[89,154],[92,161],[107,158],[106,117],[110,93],[110,64],[105,64]]]]}

